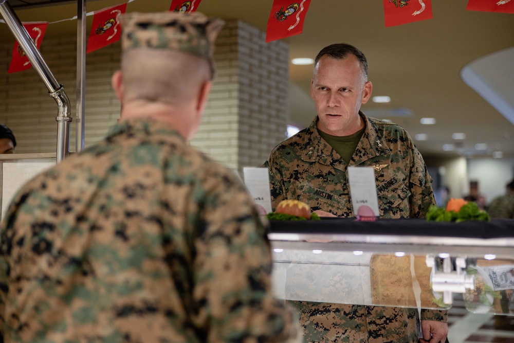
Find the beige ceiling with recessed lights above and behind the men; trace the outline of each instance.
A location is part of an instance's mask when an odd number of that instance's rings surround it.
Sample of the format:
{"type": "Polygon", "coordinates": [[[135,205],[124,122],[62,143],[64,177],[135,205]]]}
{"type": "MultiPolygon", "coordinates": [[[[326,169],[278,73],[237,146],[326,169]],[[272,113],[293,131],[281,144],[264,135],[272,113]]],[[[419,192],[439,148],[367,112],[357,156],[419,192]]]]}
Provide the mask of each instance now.
{"type": "MultiPolygon", "coordinates": [[[[126,0],[89,1],[87,10],[123,2],[126,0]]],[[[198,8],[208,15],[240,19],[265,31],[272,3],[203,0],[198,8]]],[[[171,0],[136,0],[127,10],[166,11],[170,4],[171,0]]],[[[386,28],[382,2],[378,0],[312,0],[303,33],[284,41],[289,44],[291,58],[314,58],[321,48],[337,42],[361,49],[369,61],[373,95],[392,99],[386,105],[370,102],[362,110],[374,115],[397,109],[411,111],[411,116],[385,119],[402,125],[412,137],[426,134],[427,140],[415,141],[424,155],[490,156],[493,151],[502,151],[504,157],[514,157],[514,125],[461,79],[466,65],[514,47],[514,14],[467,11],[466,4],[467,0],[434,0],[433,19],[386,28]],[[423,117],[435,118],[436,124],[421,125],[423,117]],[[453,133],[465,133],[466,139],[455,141],[453,133]],[[485,143],[487,150],[476,151],[478,143],[485,143]],[[444,151],[445,144],[456,144],[458,152],[444,151]]],[[[75,15],[76,7],[69,4],[17,13],[24,21],[53,21],[75,15]]],[[[89,25],[90,21],[88,17],[89,25]]],[[[74,25],[76,22],[53,24],[46,34],[73,31],[74,25]]],[[[503,76],[512,75],[512,59],[501,63],[505,65],[494,62],[495,73],[500,70],[503,76]]],[[[312,66],[291,64],[289,71],[291,121],[306,126],[316,115],[309,96],[312,66]]],[[[512,101],[513,78],[501,82],[503,98],[512,101]]]]}

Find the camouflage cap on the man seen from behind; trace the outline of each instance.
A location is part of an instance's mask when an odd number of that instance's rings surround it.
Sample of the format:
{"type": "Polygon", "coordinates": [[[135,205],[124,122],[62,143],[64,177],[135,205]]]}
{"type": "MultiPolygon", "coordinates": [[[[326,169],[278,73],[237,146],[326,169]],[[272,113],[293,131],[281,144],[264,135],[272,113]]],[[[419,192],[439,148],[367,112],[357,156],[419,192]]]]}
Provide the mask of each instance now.
{"type": "Polygon", "coordinates": [[[171,49],[207,59],[214,75],[214,41],[225,22],[203,13],[126,13],[120,16],[123,51],[171,49]]]}

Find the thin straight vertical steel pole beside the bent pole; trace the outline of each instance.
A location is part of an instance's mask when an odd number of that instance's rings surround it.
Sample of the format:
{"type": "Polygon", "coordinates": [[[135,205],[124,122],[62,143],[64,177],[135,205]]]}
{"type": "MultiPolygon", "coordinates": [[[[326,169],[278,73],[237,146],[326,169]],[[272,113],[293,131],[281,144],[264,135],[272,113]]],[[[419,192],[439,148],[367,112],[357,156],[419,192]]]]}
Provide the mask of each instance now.
{"type": "Polygon", "coordinates": [[[75,151],[84,149],[86,91],[86,0],[77,1],[77,112],[75,151]]]}

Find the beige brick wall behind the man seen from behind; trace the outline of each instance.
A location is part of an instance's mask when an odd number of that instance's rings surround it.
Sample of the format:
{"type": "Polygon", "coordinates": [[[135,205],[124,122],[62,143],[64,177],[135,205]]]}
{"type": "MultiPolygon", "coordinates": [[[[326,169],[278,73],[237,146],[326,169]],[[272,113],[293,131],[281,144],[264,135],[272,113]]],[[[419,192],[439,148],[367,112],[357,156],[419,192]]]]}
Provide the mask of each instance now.
{"type": "MultiPolygon", "coordinates": [[[[46,37],[41,53],[64,85],[76,114],[76,38],[46,37]]],[[[7,74],[12,43],[0,45],[0,122],[18,142],[16,152],[56,151],[57,105],[33,69],[7,74]]],[[[86,147],[100,140],[119,114],[111,75],[120,43],[86,56],[86,147]]],[[[216,43],[216,79],[204,119],[191,144],[229,168],[260,166],[285,138],[288,109],[288,46],[265,43],[265,33],[228,21],[216,43]]],[[[75,120],[70,150],[75,150],[75,120]]]]}

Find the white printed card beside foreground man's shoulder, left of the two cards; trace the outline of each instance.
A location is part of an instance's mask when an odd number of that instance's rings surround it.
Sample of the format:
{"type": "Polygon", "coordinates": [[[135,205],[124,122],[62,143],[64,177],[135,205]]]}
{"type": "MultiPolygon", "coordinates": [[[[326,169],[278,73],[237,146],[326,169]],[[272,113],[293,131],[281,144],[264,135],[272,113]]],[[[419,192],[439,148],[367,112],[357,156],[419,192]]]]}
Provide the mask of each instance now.
{"type": "Polygon", "coordinates": [[[271,212],[268,168],[244,167],[245,185],[260,214],[271,212]]]}

